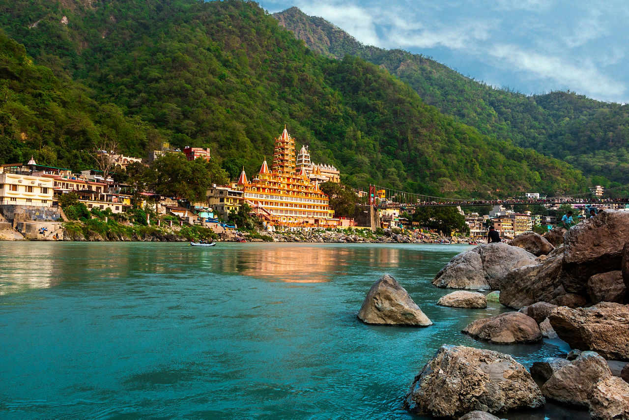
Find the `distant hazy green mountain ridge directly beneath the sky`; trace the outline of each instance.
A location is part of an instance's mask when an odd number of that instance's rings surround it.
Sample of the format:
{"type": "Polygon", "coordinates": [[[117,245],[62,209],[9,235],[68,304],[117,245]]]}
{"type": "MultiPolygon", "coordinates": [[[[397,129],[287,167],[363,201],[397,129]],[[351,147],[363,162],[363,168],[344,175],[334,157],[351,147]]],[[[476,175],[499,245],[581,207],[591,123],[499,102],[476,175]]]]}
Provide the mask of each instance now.
{"type": "Polygon", "coordinates": [[[481,133],[532,147],[587,175],[629,183],[629,105],[594,101],[574,92],[526,96],[494,89],[423,55],[362,45],[298,8],[274,16],[313,51],[333,59],[355,55],[377,64],[407,82],[425,103],[481,133]]]}

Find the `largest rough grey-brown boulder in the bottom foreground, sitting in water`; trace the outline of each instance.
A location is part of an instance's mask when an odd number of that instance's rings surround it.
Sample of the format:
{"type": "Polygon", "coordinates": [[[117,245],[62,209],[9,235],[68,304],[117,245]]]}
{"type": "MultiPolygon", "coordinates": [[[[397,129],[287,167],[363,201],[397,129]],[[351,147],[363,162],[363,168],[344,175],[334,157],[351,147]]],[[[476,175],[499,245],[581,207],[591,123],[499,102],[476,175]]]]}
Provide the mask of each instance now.
{"type": "Polygon", "coordinates": [[[415,414],[458,417],[476,410],[498,413],[544,403],[530,373],[511,356],[444,344],[415,377],[404,406],[415,414]]]}

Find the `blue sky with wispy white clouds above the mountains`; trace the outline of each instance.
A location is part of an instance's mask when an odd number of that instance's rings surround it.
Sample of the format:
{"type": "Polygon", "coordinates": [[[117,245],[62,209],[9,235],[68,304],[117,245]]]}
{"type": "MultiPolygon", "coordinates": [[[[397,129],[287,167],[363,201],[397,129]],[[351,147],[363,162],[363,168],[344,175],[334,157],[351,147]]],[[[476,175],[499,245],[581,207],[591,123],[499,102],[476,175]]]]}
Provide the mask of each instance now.
{"type": "Polygon", "coordinates": [[[297,6],[357,40],[424,54],[477,81],[525,94],[575,91],[629,103],[626,0],[264,0],[297,6]]]}

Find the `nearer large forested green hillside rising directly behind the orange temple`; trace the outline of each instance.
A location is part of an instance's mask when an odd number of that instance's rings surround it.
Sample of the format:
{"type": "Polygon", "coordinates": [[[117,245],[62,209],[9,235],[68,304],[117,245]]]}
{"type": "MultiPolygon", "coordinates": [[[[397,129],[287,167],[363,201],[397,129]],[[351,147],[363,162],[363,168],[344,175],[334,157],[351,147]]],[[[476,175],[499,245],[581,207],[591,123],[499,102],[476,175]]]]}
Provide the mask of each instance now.
{"type": "MultiPolygon", "coordinates": [[[[39,91],[49,85],[28,91],[24,78],[0,81],[20,92],[6,118],[21,130],[62,129],[35,144],[0,122],[12,148],[3,161],[35,150],[44,163],[75,169],[91,164],[77,150],[122,135],[120,151],[135,156],[164,140],[211,147],[236,176],[242,165],[259,169],[286,124],[314,161],[335,164],[352,186],[482,197],[587,185],[567,164],[443,116],[377,65],[315,54],[253,2],[0,0],[0,25],[50,69],[36,67],[64,98],[47,115],[39,91]],[[43,115],[39,128],[28,115],[43,115]],[[66,120],[82,131],[69,132],[66,120]]],[[[26,68],[27,58],[6,57],[0,71],[26,68]]]]}

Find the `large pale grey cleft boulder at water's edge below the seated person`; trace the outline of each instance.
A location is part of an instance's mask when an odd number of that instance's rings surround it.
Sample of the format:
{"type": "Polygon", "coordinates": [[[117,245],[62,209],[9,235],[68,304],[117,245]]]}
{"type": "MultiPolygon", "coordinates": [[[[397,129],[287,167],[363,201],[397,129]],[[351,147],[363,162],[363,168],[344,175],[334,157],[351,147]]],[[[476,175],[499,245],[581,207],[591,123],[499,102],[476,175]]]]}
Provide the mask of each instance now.
{"type": "Polygon", "coordinates": [[[535,256],[525,249],[503,242],[484,244],[452,258],[437,273],[433,285],[460,289],[500,289],[510,270],[529,264],[536,264],[535,256]]]}

